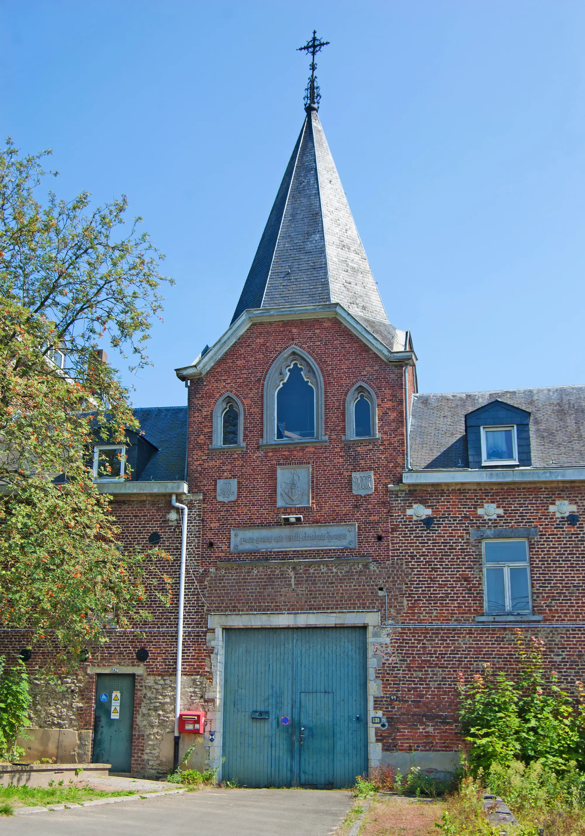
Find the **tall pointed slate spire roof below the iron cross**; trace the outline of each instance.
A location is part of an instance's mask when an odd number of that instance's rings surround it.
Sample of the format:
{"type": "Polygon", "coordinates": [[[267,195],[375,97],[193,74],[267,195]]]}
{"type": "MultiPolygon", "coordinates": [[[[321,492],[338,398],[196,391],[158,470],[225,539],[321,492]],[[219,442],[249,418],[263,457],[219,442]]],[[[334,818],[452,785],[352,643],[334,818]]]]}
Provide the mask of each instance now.
{"type": "Polygon", "coordinates": [[[404,349],[404,332],[396,345],[396,329],[389,324],[313,110],[294,146],[231,322],[247,308],[331,302],[343,305],[390,349],[404,349]]]}

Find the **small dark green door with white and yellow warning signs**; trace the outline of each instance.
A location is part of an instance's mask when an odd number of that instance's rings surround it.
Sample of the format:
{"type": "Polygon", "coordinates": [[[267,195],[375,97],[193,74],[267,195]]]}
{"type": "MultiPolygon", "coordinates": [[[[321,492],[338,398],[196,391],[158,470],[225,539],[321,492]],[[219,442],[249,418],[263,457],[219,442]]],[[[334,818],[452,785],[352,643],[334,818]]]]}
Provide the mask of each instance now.
{"type": "Polygon", "coordinates": [[[94,763],[130,772],[134,674],[98,674],[95,686],[94,763]]]}

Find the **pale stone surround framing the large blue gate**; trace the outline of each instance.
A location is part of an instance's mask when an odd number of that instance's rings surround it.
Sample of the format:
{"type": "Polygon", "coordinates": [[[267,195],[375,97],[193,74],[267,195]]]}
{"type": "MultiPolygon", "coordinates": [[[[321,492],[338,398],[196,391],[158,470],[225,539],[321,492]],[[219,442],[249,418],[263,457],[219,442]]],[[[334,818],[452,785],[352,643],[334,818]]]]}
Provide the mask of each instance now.
{"type": "MultiPolygon", "coordinates": [[[[368,715],[374,714],[374,696],[382,693],[382,681],[376,678],[380,657],[374,654],[374,645],[379,643],[379,611],[375,610],[326,610],[323,612],[298,613],[216,613],[209,616],[207,645],[213,648],[211,671],[213,685],[206,693],[206,700],[215,701],[215,711],[208,712],[211,723],[209,731],[214,740],[209,747],[209,765],[218,767],[217,780],[221,781],[221,752],[223,749],[223,680],[224,680],[224,630],[251,627],[366,627],[368,641],[368,715]]],[[[379,711],[375,712],[379,714],[379,711]]],[[[375,726],[368,722],[369,769],[379,765],[382,744],[376,742],[375,726]]]]}

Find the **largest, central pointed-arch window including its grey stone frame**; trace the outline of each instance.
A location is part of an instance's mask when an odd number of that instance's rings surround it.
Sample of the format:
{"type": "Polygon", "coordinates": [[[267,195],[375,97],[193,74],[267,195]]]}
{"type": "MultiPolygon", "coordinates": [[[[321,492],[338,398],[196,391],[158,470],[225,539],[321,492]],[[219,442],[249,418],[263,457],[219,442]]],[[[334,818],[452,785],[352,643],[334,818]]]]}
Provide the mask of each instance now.
{"type": "Polygon", "coordinates": [[[323,421],[323,377],[296,346],[272,364],[264,383],[264,442],[327,441],[323,421]]]}

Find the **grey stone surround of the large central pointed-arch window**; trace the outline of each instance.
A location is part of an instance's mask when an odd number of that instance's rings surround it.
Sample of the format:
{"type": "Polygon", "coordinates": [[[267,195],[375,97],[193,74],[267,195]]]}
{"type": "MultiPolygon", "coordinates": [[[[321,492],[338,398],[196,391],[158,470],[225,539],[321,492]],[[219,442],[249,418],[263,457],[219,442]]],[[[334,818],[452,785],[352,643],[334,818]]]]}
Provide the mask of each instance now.
{"type": "Polygon", "coordinates": [[[264,437],[261,444],[294,446],[327,442],[325,435],[325,409],[323,375],[315,363],[298,345],[291,345],[277,356],[268,370],[264,381],[264,437]],[[284,441],[277,439],[277,390],[287,377],[287,371],[293,363],[303,367],[303,377],[313,385],[315,390],[315,438],[303,438],[298,441],[284,441]]]}

